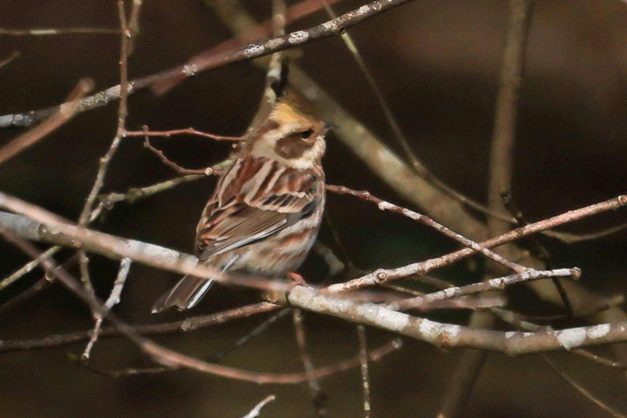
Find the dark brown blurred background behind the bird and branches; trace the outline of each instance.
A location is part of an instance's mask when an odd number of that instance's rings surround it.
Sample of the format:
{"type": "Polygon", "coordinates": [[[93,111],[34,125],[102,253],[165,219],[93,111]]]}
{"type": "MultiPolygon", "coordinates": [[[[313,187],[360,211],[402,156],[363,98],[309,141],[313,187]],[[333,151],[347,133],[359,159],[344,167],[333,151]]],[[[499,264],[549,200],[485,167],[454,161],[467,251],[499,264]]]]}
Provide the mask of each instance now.
{"type": "MultiPolygon", "coordinates": [[[[127,2],[129,3],[129,2],[127,2]]],[[[244,0],[259,21],[270,17],[269,0],[244,0]]],[[[288,2],[293,4],[295,2],[288,2]]],[[[338,13],[364,1],[345,0],[338,13]]],[[[374,78],[416,155],[447,184],[480,202],[486,201],[488,155],[495,97],[508,17],[505,0],[418,0],[350,29],[374,78]]],[[[327,20],[318,11],[288,29],[308,28],[327,20]]],[[[530,220],[604,201],[627,185],[627,4],[619,0],[538,0],[530,27],[515,144],[514,185],[517,204],[530,220]]],[[[0,0],[0,28],[117,28],[113,0],[0,0]]],[[[144,0],[140,34],[129,61],[131,78],[184,63],[231,33],[202,0],[144,0]]],[[[20,56],[0,68],[0,115],[50,107],[63,99],[83,76],[95,90],[119,83],[119,36],[0,34],[0,58],[20,56]]],[[[352,115],[364,122],[399,155],[374,94],[354,58],[339,38],[300,48],[298,64],[352,115]]],[[[153,130],[193,126],[206,132],[240,135],[248,126],[263,90],[264,73],[238,63],[184,81],[166,95],[132,95],[127,128],[153,130]]],[[[77,219],[117,122],[117,102],[82,113],[39,144],[0,166],[0,190],[77,219]]],[[[334,121],[335,122],[335,121],[334,121]]],[[[341,122],[337,122],[340,125],[341,122]]],[[[0,130],[0,145],[23,132],[0,130]]],[[[411,206],[367,169],[334,136],[324,165],[327,181],[411,206]]],[[[219,162],[229,145],[206,138],[155,138],[174,161],[203,168],[219,162]]],[[[103,192],[126,191],[176,177],[140,138],[127,138],[108,171],[103,192]]],[[[180,251],[191,252],[194,229],[214,178],[179,185],[134,204],[117,204],[93,227],[180,251]]],[[[332,226],[347,257],[364,271],[399,266],[457,248],[426,227],[350,197],[329,196],[329,222],[320,240],[339,253],[332,226]]],[[[480,217],[480,216],[479,216],[480,217]]],[[[624,211],[594,217],[562,231],[598,231],[626,219],[624,211]]],[[[582,286],[605,295],[627,291],[627,233],[567,245],[541,238],[556,267],[582,268],[582,286]]],[[[45,248],[41,246],[41,248],[45,248]]],[[[72,252],[64,250],[63,261],[72,252]]],[[[28,259],[0,243],[0,278],[28,259]]],[[[117,263],[92,256],[91,274],[98,295],[106,297],[117,263]]],[[[73,273],[77,274],[75,270],[73,273]]],[[[300,270],[307,281],[322,283],[322,259],[312,254],[300,270]]],[[[482,278],[480,259],[455,264],[435,276],[458,284],[482,278]]],[[[41,278],[33,271],[0,292],[11,300],[41,278]]],[[[344,276],[333,280],[343,280],[344,276]]],[[[134,264],[115,308],[130,323],[158,323],[187,313],[150,315],[150,307],[177,275],[134,264]]],[[[522,286],[508,291],[511,305],[534,315],[561,313],[541,303],[522,286]]],[[[215,286],[189,315],[201,315],[253,303],[240,288],[215,286]]],[[[623,306],[624,308],[624,306],[623,306]]],[[[256,327],[259,315],[193,333],[155,337],[157,342],[199,358],[256,327]]],[[[443,311],[433,317],[466,323],[467,313],[443,311]]],[[[568,324],[562,324],[568,325],[568,324]]],[[[500,329],[504,325],[498,325],[500,329]]],[[[88,310],[60,285],[49,286],[28,301],[0,312],[0,339],[36,338],[92,327],[88,310]]],[[[305,313],[308,348],[315,365],[357,353],[354,325],[305,313]]],[[[369,347],[393,336],[367,329],[369,347]]],[[[113,379],[68,360],[83,344],[48,350],[0,354],[0,416],[10,417],[241,417],[268,394],[277,400],[261,417],[314,417],[306,384],[255,385],[193,371],[113,379]]],[[[597,350],[611,356],[606,348],[597,350]]],[[[404,347],[371,365],[373,417],[435,416],[443,401],[459,351],[446,352],[406,340],[404,347]]],[[[123,338],[100,340],[93,364],[103,369],[147,367],[151,363],[123,338]]],[[[551,358],[617,410],[627,412],[627,382],[610,370],[566,353],[551,358]]],[[[283,318],[260,337],[229,353],[225,364],[258,371],[300,371],[292,319],[283,318]]],[[[322,380],[330,417],[362,412],[358,369],[322,380]]],[[[609,416],[579,395],[538,355],[507,358],[490,353],[466,411],[467,417],[609,416]]]]}

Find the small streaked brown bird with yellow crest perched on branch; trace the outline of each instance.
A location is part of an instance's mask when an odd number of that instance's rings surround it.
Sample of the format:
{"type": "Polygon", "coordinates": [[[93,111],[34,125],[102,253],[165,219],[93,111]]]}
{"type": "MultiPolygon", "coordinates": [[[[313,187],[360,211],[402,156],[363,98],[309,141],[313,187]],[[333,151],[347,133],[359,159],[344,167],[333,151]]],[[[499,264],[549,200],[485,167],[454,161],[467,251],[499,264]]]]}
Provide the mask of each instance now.
{"type": "MultiPolygon", "coordinates": [[[[282,277],[314,244],[324,210],[320,160],[330,125],[286,91],[220,177],[196,229],[196,255],[207,266],[282,277]]],[[[195,306],[213,280],[185,276],[152,312],[195,306]]]]}

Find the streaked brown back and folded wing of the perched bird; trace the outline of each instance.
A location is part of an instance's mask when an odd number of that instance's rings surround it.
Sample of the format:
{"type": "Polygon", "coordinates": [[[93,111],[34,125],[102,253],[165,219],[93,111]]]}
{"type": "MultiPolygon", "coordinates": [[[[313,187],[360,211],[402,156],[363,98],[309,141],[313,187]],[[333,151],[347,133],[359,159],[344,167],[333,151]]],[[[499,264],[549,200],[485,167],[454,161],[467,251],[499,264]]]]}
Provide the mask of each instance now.
{"type": "Polygon", "coordinates": [[[204,260],[278,233],[314,211],[320,187],[321,172],[265,158],[236,160],[204,209],[196,253],[204,260]]]}

